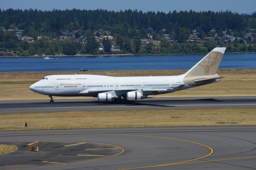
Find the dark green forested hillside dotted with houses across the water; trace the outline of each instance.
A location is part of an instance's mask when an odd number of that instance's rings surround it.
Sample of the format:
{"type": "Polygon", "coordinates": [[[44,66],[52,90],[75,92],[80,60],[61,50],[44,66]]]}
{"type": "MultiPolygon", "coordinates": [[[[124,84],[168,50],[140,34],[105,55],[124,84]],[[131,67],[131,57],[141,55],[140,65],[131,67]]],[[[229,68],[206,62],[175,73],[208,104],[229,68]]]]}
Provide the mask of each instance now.
{"type": "Polygon", "coordinates": [[[256,52],[255,28],[255,12],[7,9],[0,55],[256,52]]]}

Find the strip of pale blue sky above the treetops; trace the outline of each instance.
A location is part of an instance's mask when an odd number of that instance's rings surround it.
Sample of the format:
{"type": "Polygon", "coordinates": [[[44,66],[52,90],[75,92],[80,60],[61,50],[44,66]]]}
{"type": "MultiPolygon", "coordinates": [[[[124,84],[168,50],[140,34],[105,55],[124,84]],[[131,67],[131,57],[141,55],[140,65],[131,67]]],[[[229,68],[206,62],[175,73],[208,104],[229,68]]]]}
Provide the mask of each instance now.
{"type": "Polygon", "coordinates": [[[239,13],[256,11],[256,0],[0,0],[1,9],[107,9],[126,10],[137,9],[146,11],[173,10],[231,10],[239,13]]]}

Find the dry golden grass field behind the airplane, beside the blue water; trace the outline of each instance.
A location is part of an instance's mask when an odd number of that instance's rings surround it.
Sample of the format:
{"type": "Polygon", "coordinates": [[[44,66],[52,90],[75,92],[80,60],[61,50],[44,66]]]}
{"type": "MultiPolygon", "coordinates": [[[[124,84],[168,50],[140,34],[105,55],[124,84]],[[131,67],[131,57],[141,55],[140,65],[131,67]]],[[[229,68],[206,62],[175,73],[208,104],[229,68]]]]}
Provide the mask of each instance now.
{"type": "MultiPolygon", "coordinates": [[[[98,74],[105,76],[170,76],[186,70],[143,70],[143,71],[104,71],[104,72],[2,72],[0,73],[0,100],[38,100],[48,96],[36,94],[29,86],[52,74],[98,74]]],[[[214,97],[214,96],[256,96],[256,69],[218,70],[222,78],[218,83],[208,84],[180,92],[154,97],[214,97]]],[[[63,97],[54,97],[61,99],[63,97]]],[[[83,97],[82,97],[83,98],[83,97]]]]}

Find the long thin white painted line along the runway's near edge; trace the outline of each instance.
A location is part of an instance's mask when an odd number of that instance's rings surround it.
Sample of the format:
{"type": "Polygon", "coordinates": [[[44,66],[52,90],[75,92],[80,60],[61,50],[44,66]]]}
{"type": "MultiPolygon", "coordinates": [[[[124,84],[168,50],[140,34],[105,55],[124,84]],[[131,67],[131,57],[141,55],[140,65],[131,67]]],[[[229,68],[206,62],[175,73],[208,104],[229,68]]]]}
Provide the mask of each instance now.
{"type": "MultiPolygon", "coordinates": [[[[164,106],[252,106],[256,104],[183,104],[183,105],[164,105],[164,106]]],[[[155,107],[149,105],[139,106],[78,106],[78,107],[43,107],[43,108],[1,108],[0,110],[8,109],[55,109],[55,108],[122,108],[122,107],[155,107]]]]}

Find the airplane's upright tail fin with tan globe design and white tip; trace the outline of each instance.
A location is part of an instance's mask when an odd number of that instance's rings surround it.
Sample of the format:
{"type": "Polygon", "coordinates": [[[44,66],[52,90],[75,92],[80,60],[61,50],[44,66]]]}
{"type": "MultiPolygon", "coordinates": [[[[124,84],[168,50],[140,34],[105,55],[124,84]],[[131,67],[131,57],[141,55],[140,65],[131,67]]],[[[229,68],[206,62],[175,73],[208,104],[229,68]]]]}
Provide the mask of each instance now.
{"type": "Polygon", "coordinates": [[[194,65],[185,76],[204,76],[216,74],[226,47],[214,48],[202,60],[194,65]]]}

